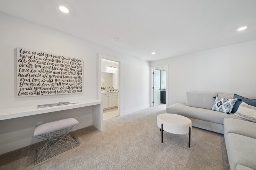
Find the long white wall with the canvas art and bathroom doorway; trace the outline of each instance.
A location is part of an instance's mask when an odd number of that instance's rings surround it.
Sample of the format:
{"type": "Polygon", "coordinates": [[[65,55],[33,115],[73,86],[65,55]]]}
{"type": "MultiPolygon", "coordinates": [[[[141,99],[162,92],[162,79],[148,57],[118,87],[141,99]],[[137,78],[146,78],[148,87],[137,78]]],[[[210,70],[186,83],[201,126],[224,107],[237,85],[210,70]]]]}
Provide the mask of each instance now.
{"type": "MultiPolygon", "coordinates": [[[[149,62],[2,12],[0,23],[0,109],[97,99],[98,53],[123,61],[124,91],[121,111],[128,113],[132,109],[149,106],[149,62]],[[16,47],[84,59],[84,92],[17,98],[16,47]]],[[[85,110],[73,109],[0,121],[0,154],[35,143],[32,135],[37,122],[66,117],[78,119],[81,123],[80,128],[92,124],[91,107],[85,110]]]]}

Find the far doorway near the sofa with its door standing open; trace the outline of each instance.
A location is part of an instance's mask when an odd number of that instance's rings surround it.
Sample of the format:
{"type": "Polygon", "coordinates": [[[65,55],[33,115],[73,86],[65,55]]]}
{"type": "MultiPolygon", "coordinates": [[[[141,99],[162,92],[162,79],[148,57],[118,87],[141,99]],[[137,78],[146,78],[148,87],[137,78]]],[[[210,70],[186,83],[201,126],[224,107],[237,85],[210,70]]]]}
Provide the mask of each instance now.
{"type": "MultiPolygon", "coordinates": [[[[151,67],[150,80],[150,106],[166,105],[168,104],[168,66],[151,67]]],[[[167,106],[167,105],[166,105],[167,106]]]]}

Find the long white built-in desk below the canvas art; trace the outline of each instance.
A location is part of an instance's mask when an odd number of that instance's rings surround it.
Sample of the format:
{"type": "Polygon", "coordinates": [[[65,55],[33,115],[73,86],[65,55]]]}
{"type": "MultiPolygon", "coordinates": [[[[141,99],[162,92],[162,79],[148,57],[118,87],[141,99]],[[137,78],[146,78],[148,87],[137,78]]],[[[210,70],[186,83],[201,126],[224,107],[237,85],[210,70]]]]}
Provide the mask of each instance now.
{"type": "Polygon", "coordinates": [[[44,107],[44,108],[36,108],[36,106],[26,106],[26,107],[16,107],[9,109],[0,109],[0,120],[12,119],[17,117],[24,117],[30,115],[38,115],[42,113],[49,113],[53,111],[61,111],[67,109],[75,109],[78,107],[86,107],[92,106],[92,125],[94,125],[97,129],[102,131],[102,101],[91,99],[91,100],[81,100],[81,101],[72,101],[70,103],[76,104],[68,104],[62,106],[53,106],[53,107],[44,107]]]}

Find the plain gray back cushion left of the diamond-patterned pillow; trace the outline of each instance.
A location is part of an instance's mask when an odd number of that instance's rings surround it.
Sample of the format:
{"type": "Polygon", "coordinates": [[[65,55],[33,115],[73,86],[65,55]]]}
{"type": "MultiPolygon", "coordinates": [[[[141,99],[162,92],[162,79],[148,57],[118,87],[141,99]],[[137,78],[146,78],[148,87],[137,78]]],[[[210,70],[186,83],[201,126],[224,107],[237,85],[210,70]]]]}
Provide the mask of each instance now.
{"type": "Polygon", "coordinates": [[[204,109],[212,109],[216,92],[186,92],[186,105],[204,109]]]}

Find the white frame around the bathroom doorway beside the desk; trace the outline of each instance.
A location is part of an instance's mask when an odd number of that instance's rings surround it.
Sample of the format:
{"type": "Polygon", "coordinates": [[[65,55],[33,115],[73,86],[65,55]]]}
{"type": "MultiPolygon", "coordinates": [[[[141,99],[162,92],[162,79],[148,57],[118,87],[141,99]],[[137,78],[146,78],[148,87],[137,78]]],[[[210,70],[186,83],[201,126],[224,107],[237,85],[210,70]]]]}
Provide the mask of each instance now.
{"type": "Polygon", "coordinates": [[[122,114],[122,60],[117,59],[114,57],[109,57],[107,55],[99,54],[98,57],[98,100],[101,100],[101,61],[102,59],[110,60],[110,61],[115,61],[118,62],[118,115],[121,116],[122,114]]]}

